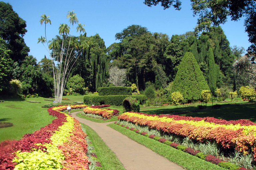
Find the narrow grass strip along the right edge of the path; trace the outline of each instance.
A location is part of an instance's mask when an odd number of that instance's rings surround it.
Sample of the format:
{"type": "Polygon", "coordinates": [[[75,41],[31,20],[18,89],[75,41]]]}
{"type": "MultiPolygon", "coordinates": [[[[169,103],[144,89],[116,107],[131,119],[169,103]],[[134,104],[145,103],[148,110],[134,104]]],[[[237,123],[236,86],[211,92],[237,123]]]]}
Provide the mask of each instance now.
{"type": "MultiPolygon", "coordinates": [[[[109,124],[107,125],[122,134],[130,137],[131,139],[137,141],[138,143],[150,148],[154,152],[166,157],[172,162],[177,163],[178,165],[183,166],[184,168],[188,170],[226,170],[224,168],[221,168],[218,165],[215,165],[213,163],[207,162],[205,160],[202,160],[196,156],[190,155],[186,152],[177,150],[171,146],[165,145],[159,141],[156,141],[154,139],[150,139],[146,136],[143,136],[141,134],[135,133],[132,130],[123,128],[121,126],[118,126],[116,124],[109,124]]],[[[124,153],[125,154],[125,153],[124,153]]]]}

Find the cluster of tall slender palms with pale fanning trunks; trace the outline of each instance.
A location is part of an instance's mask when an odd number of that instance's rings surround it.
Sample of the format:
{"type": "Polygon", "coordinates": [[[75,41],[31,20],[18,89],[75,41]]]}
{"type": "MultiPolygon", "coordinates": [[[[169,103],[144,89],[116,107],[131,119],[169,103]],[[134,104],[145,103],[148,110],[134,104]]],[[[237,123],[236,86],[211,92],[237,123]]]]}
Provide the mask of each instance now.
{"type": "MultiPolygon", "coordinates": [[[[69,19],[70,24],[72,24],[72,30],[74,23],[78,23],[78,19],[76,17],[76,13],[74,11],[69,11],[67,14],[67,18],[69,19]]],[[[71,30],[71,34],[72,34],[71,30]]],[[[54,94],[55,100],[57,103],[61,103],[63,91],[66,85],[66,81],[68,79],[71,68],[76,62],[77,58],[81,55],[80,51],[86,47],[85,43],[77,42],[77,38],[70,35],[69,40],[65,38],[69,34],[69,26],[67,24],[61,24],[59,28],[59,34],[62,35],[62,39],[58,36],[57,40],[53,40],[49,45],[52,49],[53,57],[52,59],[52,67],[53,67],[53,77],[54,77],[54,94]],[[55,43],[58,42],[58,43],[55,43]],[[61,42],[61,43],[59,43],[61,42]],[[79,46],[78,50],[77,47],[79,46]],[[57,49],[55,49],[57,47],[57,49]],[[58,52],[55,53],[54,51],[58,52]],[[56,56],[55,56],[56,55],[56,56]],[[57,58],[57,69],[54,67],[54,60],[57,58]]],[[[49,51],[50,53],[50,51],[49,51]]]]}

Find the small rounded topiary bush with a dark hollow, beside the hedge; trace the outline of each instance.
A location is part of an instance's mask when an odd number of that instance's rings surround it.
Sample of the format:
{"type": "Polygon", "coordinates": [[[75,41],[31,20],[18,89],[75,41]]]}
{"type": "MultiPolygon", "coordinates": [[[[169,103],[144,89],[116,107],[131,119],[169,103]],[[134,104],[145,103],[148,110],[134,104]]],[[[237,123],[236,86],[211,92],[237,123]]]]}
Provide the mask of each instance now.
{"type": "Polygon", "coordinates": [[[140,105],[135,98],[128,97],[123,100],[123,113],[131,111],[140,112],[140,105]]]}

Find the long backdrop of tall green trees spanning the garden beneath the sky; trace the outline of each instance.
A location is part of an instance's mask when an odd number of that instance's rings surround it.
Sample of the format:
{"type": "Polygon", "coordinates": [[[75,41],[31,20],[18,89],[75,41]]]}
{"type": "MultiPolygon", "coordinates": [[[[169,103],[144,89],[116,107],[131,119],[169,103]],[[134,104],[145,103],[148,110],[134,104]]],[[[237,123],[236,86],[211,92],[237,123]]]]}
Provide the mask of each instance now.
{"type": "MultiPolygon", "coordinates": [[[[209,27],[199,37],[196,32],[187,32],[169,38],[166,34],[151,33],[145,27],[131,25],[115,35],[119,43],[106,48],[98,34],[86,36],[84,25],[78,23],[74,11],[69,11],[67,15],[70,25],[60,24],[59,35],[47,41],[46,25],[51,24],[51,21],[44,14],[40,23],[45,24],[45,37],[41,36],[38,43],[42,42],[49,50],[50,59],[45,56],[37,63],[33,56],[28,56],[29,48],[22,38],[26,33],[25,21],[18,17],[10,4],[1,2],[0,8],[0,64],[4,63],[0,68],[2,93],[9,92],[11,79],[19,79],[23,94],[50,96],[55,93],[55,96],[61,98],[64,88],[69,88],[66,81],[76,75],[82,77],[84,87],[89,87],[91,91],[111,84],[131,86],[132,83],[136,84],[137,91],[141,91],[145,89],[147,82],[152,82],[156,89],[161,89],[170,82],[176,86],[181,75],[189,78],[195,73],[196,79],[200,79],[197,80],[197,86],[215,94],[216,88],[236,90],[248,85],[251,80],[249,76],[243,79],[239,76],[239,73],[251,66],[248,58],[246,60],[241,57],[244,49],[230,47],[221,27],[209,27]],[[13,16],[7,15],[9,13],[13,16]],[[16,25],[13,24],[15,22],[16,25]],[[72,35],[74,24],[77,24],[79,36],[72,35]],[[14,44],[14,40],[18,39],[20,41],[15,42],[19,44],[14,44]],[[193,57],[186,59],[186,55],[193,57]],[[246,63],[241,63],[241,59],[246,63]],[[196,68],[194,73],[182,64],[182,60],[186,65],[196,68]],[[239,67],[233,64],[235,60],[239,61],[239,67]],[[237,72],[234,72],[234,68],[237,68],[237,72]]],[[[251,72],[253,69],[251,67],[251,72]]],[[[186,95],[186,100],[197,99],[193,90],[186,95]]]]}

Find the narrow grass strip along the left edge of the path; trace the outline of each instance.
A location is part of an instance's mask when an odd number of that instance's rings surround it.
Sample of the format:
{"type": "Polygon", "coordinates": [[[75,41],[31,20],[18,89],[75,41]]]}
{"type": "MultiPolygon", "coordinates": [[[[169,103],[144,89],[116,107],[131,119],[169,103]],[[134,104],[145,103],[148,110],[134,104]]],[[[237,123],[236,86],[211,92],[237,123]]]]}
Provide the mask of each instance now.
{"type": "Polygon", "coordinates": [[[89,126],[80,123],[86,129],[92,145],[96,151],[98,161],[101,163],[103,170],[125,170],[122,163],[116,157],[114,152],[105,144],[98,134],[89,126]]]}

